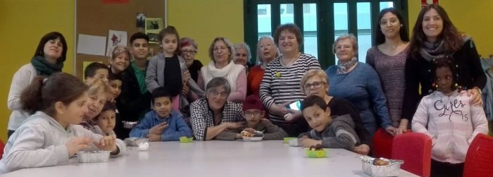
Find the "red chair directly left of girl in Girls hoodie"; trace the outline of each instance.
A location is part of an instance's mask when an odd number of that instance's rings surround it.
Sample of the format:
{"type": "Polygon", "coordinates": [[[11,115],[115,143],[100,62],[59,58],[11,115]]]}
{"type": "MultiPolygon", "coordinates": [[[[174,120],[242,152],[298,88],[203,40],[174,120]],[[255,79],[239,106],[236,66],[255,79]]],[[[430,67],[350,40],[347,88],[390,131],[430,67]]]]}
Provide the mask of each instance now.
{"type": "Polygon", "coordinates": [[[404,160],[401,169],[418,176],[430,176],[432,140],[424,133],[397,135],[392,144],[392,159],[404,160]]]}

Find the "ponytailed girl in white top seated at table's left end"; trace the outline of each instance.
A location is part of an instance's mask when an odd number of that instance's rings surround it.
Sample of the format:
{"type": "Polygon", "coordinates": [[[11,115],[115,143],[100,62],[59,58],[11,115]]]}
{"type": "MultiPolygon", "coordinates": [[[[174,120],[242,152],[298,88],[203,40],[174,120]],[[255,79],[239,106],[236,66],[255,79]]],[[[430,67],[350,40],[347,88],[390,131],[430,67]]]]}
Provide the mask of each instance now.
{"type": "MultiPolygon", "coordinates": [[[[67,73],[37,76],[20,96],[32,114],[11,135],[0,160],[0,173],[65,163],[82,149],[125,154],[116,136],[102,136],[77,125],[87,111],[88,86],[67,73]]],[[[121,141],[121,140],[120,140],[121,141]]]]}

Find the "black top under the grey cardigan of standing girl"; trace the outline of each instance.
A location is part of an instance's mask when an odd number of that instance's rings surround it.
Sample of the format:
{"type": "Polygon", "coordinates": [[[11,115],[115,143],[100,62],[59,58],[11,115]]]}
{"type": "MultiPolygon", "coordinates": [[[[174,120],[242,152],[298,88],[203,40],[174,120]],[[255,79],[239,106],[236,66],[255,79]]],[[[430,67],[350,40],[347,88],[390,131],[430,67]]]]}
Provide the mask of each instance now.
{"type": "Polygon", "coordinates": [[[182,67],[177,55],[165,59],[163,87],[166,87],[171,96],[175,97],[182,92],[182,67]]]}

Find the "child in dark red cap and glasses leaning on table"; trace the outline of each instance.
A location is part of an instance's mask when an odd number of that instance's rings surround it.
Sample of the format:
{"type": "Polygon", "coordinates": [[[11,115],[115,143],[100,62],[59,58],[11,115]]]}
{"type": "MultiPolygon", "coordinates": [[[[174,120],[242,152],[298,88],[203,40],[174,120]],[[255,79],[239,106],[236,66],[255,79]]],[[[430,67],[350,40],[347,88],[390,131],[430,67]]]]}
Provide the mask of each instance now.
{"type": "Polygon", "coordinates": [[[216,140],[236,140],[242,139],[242,130],[250,133],[254,131],[263,132],[262,140],[282,140],[287,137],[287,133],[282,128],[275,126],[266,119],[266,109],[258,95],[250,95],[243,102],[243,117],[246,127],[228,130],[216,135],[216,140]]]}

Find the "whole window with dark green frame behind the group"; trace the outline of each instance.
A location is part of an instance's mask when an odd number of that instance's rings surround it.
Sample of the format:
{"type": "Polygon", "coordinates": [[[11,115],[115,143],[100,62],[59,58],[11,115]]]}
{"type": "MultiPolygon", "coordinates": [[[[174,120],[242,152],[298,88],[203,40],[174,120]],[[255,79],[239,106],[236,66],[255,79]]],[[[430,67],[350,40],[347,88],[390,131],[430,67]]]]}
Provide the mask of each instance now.
{"type": "Polygon", "coordinates": [[[295,23],[304,36],[300,50],[316,56],[327,68],[337,60],[332,54],[335,39],[352,33],[358,39],[358,60],[364,62],[366,51],[373,46],[373,27],[380,10],[399,7],[407,20],[406,5],[406,0],[244,0],[244,39],[255,49],[259,37],[273,35],[278,25],[295,23]]]}

